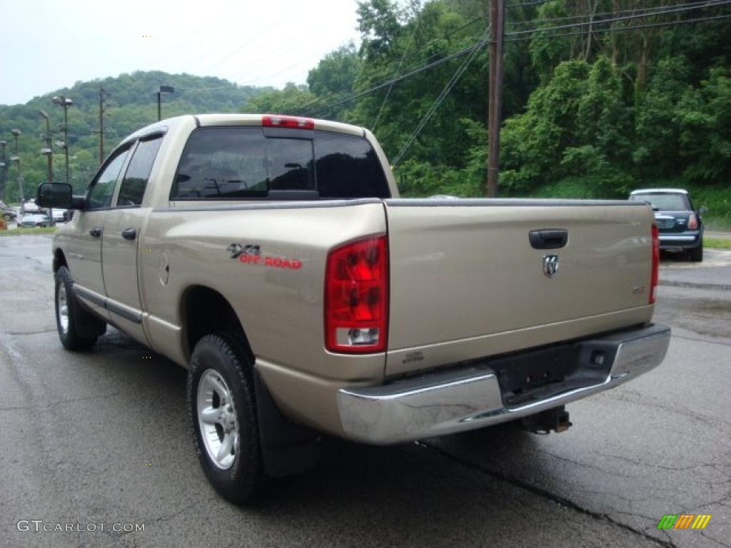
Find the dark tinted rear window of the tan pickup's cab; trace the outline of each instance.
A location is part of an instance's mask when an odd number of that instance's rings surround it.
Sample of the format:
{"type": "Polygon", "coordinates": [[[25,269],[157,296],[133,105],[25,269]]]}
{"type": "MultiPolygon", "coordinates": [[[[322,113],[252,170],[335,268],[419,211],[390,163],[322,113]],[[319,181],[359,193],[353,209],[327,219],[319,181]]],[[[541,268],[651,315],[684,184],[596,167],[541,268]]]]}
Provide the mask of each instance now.
{"type": "Polygon", "coordinates": [[[266,199],[269,191],[317,191],[321,199],[390,197],[364,137],[210,127],[189,137],[170,199],[266,199]]]}

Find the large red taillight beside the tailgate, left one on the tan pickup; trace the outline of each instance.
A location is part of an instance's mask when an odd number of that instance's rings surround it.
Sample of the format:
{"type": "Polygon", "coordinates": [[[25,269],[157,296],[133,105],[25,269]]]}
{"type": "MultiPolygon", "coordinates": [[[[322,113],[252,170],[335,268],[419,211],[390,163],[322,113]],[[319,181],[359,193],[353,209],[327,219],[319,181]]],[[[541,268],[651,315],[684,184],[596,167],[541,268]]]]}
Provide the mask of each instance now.
{"type": "Polygon", "coordinates": [[[325,267],[325,348],[382,352],[388,335],[388,241],[371,236],[330,251],[325,267]]]}

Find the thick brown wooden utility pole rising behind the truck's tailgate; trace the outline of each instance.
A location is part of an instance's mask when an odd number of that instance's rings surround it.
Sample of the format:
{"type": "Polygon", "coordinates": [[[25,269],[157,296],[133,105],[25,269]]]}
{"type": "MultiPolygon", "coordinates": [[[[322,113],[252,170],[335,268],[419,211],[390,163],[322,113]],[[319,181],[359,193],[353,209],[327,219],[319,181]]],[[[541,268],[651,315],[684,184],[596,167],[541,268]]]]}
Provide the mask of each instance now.
{"type": "Polygon", "coordinates": [[[490,0],[490,99],[488,102],[488,197],[498,194],[500,119],[502,115],[503,38],[505,0],[490,0]]]}

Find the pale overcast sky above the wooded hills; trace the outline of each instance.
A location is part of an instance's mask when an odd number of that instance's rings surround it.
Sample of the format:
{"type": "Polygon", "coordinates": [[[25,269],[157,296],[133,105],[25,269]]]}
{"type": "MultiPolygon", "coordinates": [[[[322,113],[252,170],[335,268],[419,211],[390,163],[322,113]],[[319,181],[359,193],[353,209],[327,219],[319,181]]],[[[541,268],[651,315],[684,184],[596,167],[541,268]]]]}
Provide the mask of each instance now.
{"type": "Polygon", "coordinates": [[[304,83],[356,0],[0,0],[0,104],[135,70],[304,83]]]}

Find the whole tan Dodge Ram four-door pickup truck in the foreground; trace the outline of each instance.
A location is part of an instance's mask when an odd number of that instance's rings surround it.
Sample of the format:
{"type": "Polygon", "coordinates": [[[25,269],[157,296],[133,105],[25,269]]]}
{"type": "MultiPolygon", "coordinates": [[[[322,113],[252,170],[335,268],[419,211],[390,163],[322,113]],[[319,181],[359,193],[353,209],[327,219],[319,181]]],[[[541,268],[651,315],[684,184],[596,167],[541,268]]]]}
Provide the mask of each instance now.
{"type": "Polygon", "coordinates": [[[515,419],[656,367],[644,202],[399,199],[366,129],[186,115],[130,135],[53,237],[69,350],[111,324],[186,368],[221,495],[317,462],[325,434],[397,444],[515,419]]]}

